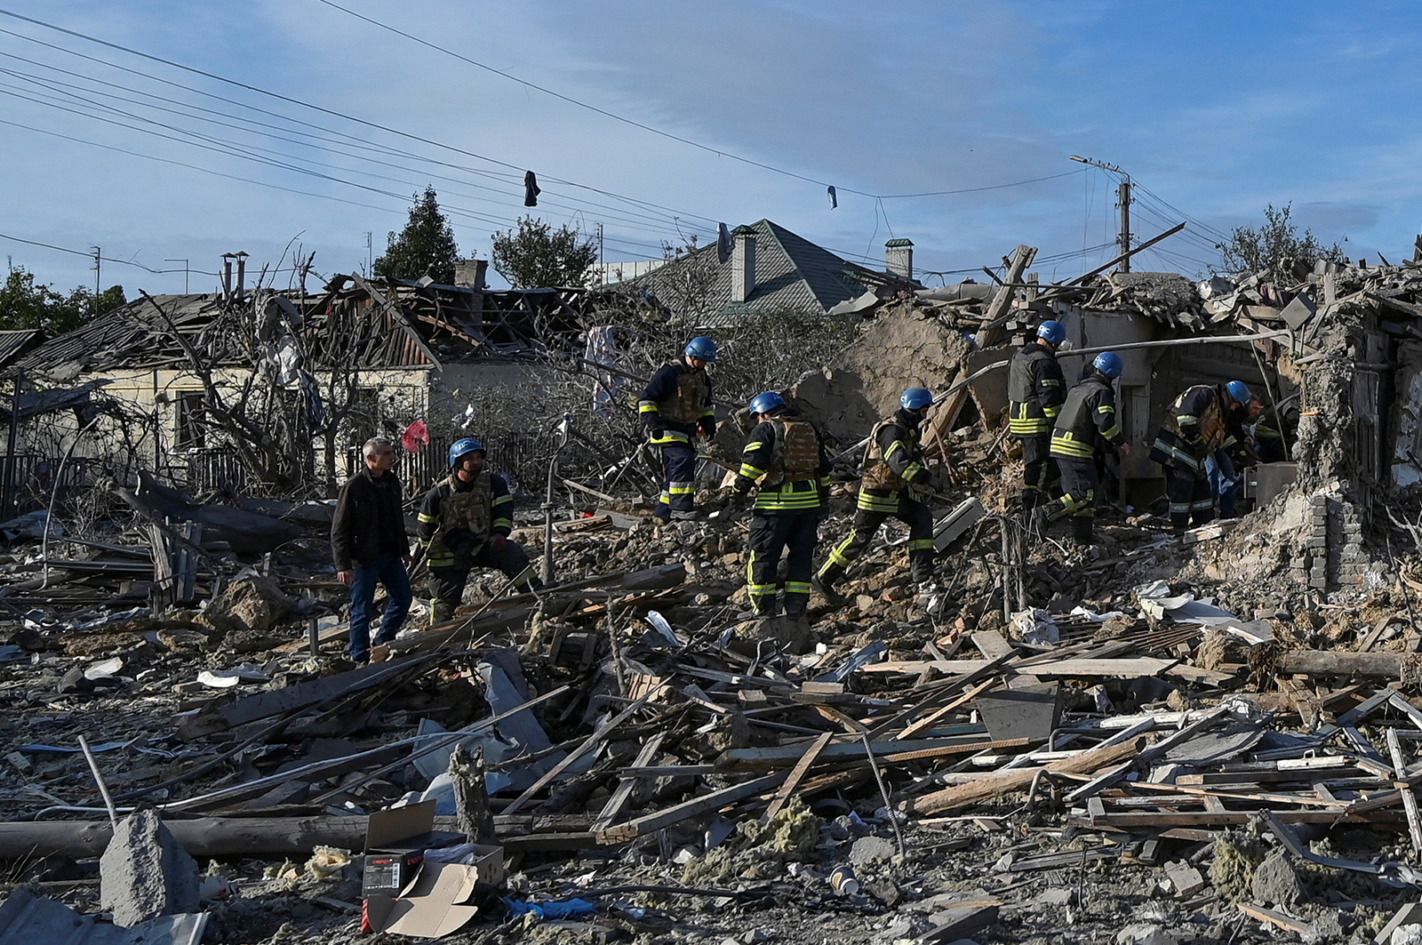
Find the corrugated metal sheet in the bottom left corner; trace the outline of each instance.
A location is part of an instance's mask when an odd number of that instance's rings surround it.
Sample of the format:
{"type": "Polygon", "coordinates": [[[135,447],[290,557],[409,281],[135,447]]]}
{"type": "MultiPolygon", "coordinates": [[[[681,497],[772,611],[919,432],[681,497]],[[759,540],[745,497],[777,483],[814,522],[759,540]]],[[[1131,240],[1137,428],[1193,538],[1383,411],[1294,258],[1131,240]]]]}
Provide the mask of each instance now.
{"type": "Polygon", "coordinates": [[[57,899],[17,887],[0,905],[0,945],[198,945],[206,914],[165,915],[134,928],[80,915],[57,899]]]}

